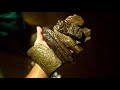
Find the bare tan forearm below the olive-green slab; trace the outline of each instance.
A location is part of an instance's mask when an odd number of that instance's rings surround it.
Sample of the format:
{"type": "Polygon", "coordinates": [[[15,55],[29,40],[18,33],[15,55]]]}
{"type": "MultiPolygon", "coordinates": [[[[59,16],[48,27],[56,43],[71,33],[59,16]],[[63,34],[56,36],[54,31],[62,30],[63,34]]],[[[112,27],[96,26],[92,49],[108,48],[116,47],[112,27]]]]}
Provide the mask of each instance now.
{"type": "Polygon", "coordinates": [[[30,73],[26,78],[48,78],[47,74],[42,70],[42,68],[35,63],[30,73]]]}

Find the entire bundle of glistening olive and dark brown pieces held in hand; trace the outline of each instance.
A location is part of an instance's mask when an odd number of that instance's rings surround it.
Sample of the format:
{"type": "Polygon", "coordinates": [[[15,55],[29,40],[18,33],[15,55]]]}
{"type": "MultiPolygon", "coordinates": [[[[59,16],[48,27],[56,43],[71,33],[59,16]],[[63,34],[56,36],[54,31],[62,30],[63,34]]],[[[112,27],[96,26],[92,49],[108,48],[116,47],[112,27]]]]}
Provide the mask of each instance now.
{"type": "Polygon", "coordinates": [[[43,27],[43,38],[48,47],[37,44],[28,50],[28,56],[37,62],[50,75],[64,63],[74,62],[74,55],[78,55],[83,48],[80,46],[91,39],[91,30],[81,26],[84,20],[74,14],[65,20],[58,20],[53,30],[43,27]]]}

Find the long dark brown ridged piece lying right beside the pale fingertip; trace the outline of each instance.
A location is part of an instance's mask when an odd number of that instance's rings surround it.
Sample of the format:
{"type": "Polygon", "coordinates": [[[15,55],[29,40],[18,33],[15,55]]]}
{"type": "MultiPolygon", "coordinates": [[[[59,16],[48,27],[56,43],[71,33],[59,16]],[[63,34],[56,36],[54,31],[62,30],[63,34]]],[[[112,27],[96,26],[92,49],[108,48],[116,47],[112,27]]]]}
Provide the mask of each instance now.
{"type": "Polygon", "coordinates": [[[43,27],[43,37],[48,46],[63,63],[73,61],[70,50],[63,44],[63,42],[60,41],[54,31],[43,27]]]}

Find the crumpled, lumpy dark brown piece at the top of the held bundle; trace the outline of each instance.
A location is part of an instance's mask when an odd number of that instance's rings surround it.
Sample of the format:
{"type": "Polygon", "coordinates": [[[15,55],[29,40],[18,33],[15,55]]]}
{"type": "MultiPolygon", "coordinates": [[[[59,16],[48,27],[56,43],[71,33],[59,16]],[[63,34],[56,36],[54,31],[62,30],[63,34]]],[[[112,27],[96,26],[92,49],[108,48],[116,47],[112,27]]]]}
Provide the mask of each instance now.
{"type": "Polygon", "coordinates": [[[54,30],[68,35],[77,41],[86,42],[91,39],[91,30],[86,27],[81,28],[83,24],[84,20],[82,17],[74,14],[73,16],[68,16],[65,20],[58,20],[54,30]]]}

